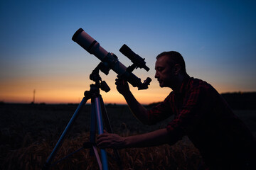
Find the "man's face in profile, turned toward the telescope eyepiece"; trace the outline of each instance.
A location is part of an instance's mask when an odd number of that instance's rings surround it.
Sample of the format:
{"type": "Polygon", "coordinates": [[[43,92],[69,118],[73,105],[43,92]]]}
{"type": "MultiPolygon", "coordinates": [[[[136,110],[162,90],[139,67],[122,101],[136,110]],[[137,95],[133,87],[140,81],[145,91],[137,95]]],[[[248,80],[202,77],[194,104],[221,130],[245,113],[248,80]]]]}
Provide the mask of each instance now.
{"type": "Polygon", "coordinates": [[[170,63],[170,58],[167,56],[161,56],[156,60],[155,78],[159,81],[161,87],[171,87],[174,84],[174,70],[170,63]]]}

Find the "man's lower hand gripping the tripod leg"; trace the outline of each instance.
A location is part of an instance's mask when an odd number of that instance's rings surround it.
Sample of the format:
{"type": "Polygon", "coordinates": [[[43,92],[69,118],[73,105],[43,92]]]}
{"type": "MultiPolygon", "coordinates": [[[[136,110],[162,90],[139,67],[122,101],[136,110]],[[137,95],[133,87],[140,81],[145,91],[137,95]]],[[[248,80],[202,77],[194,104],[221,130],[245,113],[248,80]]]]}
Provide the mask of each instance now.
{"type": "Polygon", "coordinates": [[[125,140],[124,137],[120,137],[114,133],[108,133],[104,130],[104,133],[97,137],[96,144],[100,148],[121,149],[125,146],[125,140]]]}

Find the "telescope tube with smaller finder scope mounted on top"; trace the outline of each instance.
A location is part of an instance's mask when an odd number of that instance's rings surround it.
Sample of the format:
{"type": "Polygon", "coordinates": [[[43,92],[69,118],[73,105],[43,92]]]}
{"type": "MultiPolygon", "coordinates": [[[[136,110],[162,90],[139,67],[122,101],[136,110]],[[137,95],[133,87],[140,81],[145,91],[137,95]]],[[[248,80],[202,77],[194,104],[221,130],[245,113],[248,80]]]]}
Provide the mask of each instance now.
{"type": "Polygon", "coordinates": [[[106,75],[110,72],[110,69],[112,69],[119,75],[120,78],[128,81],[129,84],[132,84],[132,86],[138,87],[139,90],[148,89],[151,79],[147,77],[142,83],[141,79],[135,76],[132,71],[139,67],[148,72],[149,67],[146,67],[146,62],[144,61],[145,59],[142,59],[142,57],[135,54],[127,45],[124,44],[119,51],[132,61],[133,64],[129,67],[125,67],[124,64],[119,62],[116,55],[111,52],[107,52],[103,47],[100,46],[99,42],[85,33],[82,28],[75,32],[72,40],[77,42],[78,45],[84,48],[91,55],[95,55],[95,57],[102,61],[99,64],[100,70],[106,75]]]}

